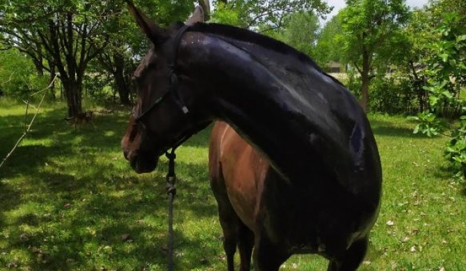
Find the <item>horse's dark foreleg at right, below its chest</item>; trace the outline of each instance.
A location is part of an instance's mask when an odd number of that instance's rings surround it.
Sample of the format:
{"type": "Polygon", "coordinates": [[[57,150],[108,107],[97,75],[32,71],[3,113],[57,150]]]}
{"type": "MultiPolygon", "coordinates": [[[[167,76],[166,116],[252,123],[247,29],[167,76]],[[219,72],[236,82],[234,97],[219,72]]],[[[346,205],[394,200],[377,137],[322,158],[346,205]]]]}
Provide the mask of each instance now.
{"type": "Polygon", "coordinates": [[[328,271],[355,271],[364,260],[369,244],[368,238],[357,240],[342,255],[330,260],[328,271]]]}

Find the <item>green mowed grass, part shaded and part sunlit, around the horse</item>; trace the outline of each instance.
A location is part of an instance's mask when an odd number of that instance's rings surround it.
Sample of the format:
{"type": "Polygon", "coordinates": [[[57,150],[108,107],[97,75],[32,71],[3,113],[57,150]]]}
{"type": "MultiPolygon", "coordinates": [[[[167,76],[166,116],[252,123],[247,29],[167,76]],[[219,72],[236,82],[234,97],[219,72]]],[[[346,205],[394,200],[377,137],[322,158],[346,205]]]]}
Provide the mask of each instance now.
{"type": "MultiPolygon", "coordinates": [[[[24,109],[0,99],[1,159],[24,131],[24,109]]],[[[64,115],[63,104],[41,110],[0,168],[0,270],[167,270],[166,159],[151,174],[131,170],[120,150],[129,110],[76,129],[64,115]]],[[[384,195],[360,270],[466,270],[465,185],[447,170],[446,139],[413,135],[405,117],[369,118],[384,195]]],[[[208,138],[206,129],[177,151],[175,270],[226,270],[208,138]]],[[[296,255],[282,270],[326,263],[296,255]]]]}

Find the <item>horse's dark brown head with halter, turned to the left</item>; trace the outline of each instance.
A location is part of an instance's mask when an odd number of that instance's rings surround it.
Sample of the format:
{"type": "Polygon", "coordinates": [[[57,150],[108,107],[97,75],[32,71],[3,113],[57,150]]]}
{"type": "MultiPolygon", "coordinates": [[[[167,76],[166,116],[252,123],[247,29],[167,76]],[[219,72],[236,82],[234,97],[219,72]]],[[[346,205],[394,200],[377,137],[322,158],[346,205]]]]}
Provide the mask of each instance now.
{"type": "MultiPolygon", "coordinates": [[[[177,47],[182,37],[178,27],[161,28],[129,3],[129,10],[152,42],[152,47],[134,72],[139,93],[121,145],[124,157],[138,173],[155,169],[159,156],[174,147],[205,119],[196,107],[189,79],[177,73],[177,47]]],[[[203,20],[198,7],[186,26],[203,20]]]]}

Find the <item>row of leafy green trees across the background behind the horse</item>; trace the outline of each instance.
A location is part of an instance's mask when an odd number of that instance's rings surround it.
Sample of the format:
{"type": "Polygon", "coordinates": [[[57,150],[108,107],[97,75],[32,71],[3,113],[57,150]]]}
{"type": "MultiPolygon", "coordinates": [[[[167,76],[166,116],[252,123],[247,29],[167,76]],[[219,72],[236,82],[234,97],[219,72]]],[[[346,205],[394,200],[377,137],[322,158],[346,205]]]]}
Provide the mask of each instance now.
{"type": "MultiPolygon", "coordinates": [[[[135,0],[162,25],[182,20],[205,0],[135,0]]],[[[210,22],[233,24],[271,35],[328,69],[346,72],[344,83],[366,111],[413,113],[431,107],[424,87],[428,48],[444,14],[455,12],[464,27],[465,2],[430,1],[410,10],[405,0],[346,0],[346,8],[321,26],[330,10],[322,0],[216,0],[210,22]]],[[[68,115],[81,113],[83,92],[93,99],[134,97],[131,73],[149,44],[123,0],[0,0],[0,88],[24,97],[58,76],[68,115]],[[3,83],[8,81],[8,83],[3,83]],[[3,83],[3,84],[2,84],[3,83]],[[107,88],[105,88],[107,87],[107,88]]],[[[464,54],[460,53],[460,54],[464,54]]],[[[460,95],[458,77],[452,95],[460,95]]],[[[51,88],[50,99],[56,90],[51,88]]],[[[447,113],[447,111],[445,111],[447,113]]]]}

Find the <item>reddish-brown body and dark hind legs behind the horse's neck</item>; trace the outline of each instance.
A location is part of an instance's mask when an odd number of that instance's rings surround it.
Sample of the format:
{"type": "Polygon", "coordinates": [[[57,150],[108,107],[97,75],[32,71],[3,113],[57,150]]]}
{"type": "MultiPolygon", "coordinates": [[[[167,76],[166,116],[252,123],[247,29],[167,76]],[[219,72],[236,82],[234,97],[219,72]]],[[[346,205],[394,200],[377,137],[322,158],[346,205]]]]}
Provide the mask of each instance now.
{"type": "MultiPolygon", "coordinates": [[[[209,178],[223,229],[227,270],[234,270],[236,245],[240,270],[250,270],[255,206],[273,167],[225,122],[215,122],[209,139],[209,178]]],[[[281,181],[284,181],[283,179],[281,181]]]]}

